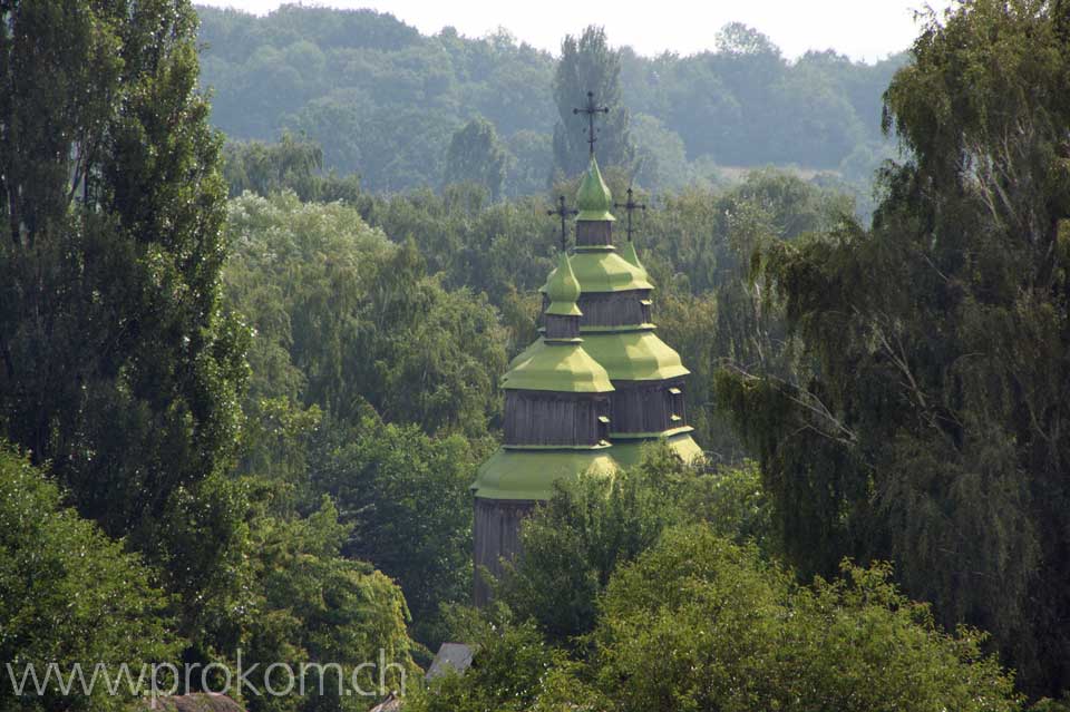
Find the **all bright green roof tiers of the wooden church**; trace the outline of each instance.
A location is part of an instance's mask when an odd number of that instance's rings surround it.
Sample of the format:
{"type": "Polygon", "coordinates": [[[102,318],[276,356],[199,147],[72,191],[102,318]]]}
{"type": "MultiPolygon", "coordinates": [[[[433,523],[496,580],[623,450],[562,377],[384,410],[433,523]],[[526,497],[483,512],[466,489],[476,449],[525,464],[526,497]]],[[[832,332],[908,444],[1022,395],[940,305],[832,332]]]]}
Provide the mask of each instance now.
{"type": "MultiPolygon", "coordinates": [[[[616,220],[611,213],[612,194],[594,156],[581,181],[576,204],[577,224],[616,220]]],[[[606,242],[611,242],[609,234],[606,242]]],[[[680,354],[658,338],[654,324],[594,325],[584,324],[581,319],[583,294],[635,292],[635,299],[642,301],[653,289],[631,241],[621,251],[613,244],[577,244],[572,255],[563,252],[539,291],[547,298],[547,323],[551,319],[575,319],[575,333],[582,338],[543,335],[513,359],[503,377],[503,388],[596,396],[613,392],[614,383],[656,383],[683,378],[690,371],[680,354]]],[[[476,496],[547,499],[556,480],[584,472],[612,475],[621,465],[636,464],[643,443],[655,439],[668,441],[688,461],[701,455],[691,438],[692,429],[683,425],[658,432],[615,432],[611,422],[610,430],[611,443],[505,445],[479,469],[476,496]]]]}

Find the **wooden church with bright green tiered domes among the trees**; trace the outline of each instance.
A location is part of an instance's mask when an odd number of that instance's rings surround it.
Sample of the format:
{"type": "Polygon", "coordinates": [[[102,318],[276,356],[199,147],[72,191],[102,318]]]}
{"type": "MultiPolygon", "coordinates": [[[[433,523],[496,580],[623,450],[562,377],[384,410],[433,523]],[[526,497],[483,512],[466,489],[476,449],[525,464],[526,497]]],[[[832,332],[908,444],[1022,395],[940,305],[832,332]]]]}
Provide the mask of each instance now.
{"type": "Polygon", "coordinates": [[[502,381],[504,442],[473,486],[477,604],[488,596],[479,567],[500,575],[500,559],[519,553],[521,520],[555,481],[612,477],[653,440],[685,461],[701,456],[684,403],[689,371],[658,338],[654,287],[634,245],[613,243],[613,198],[593,150],[576,206],[575,247],[562,252],[541,289],[542,337],[502,381]]]}

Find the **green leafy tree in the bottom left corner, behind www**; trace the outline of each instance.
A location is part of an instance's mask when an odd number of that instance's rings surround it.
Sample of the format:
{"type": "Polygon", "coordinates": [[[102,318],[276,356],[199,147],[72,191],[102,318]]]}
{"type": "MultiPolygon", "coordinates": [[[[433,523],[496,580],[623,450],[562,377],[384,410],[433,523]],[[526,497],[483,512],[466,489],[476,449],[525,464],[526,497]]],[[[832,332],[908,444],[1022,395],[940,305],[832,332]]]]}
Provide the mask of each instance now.
{"type": "Polygon", "coordinates": [[[126,685],[108,695],[98,680],[86,695],[71,666],[82,665],[88,682],[97,663],[108,665],[114,679],[121,664],[136,676],[143,663],[176,659],[181,641],[153,581],[139,556],[64,507],[59,488],[0,443],[0,659],[9,665],[0,710],[127,709],[126,685]],[[47,670],[51,664],[54,672],[47,670]],[[35,677],[27,675],[30,666],[35,677]],[[64,693],[68,679],[71,690],[64,693]],[[38,683],[43,694],[37,694],[38,683]],[[21,695],[16,684],[22,684],[21,695]]]}

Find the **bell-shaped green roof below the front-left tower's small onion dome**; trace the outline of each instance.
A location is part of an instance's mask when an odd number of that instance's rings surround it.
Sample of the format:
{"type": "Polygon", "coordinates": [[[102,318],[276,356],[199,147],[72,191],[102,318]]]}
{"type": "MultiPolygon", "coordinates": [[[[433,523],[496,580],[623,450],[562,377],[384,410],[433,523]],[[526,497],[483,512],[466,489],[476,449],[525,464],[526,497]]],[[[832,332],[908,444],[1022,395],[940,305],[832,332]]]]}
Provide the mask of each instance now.
{"type": "MultiPolygon", "coordinates": [[[[557,391],[562,393],[605,393],[613,390],[610,375],[574,342],[538,342],[541,349],[528,348],[502,377],[502,387],[509,390],[557,391]]],[[[534,345],[534,344],[533,344],[534,345]]]]}

